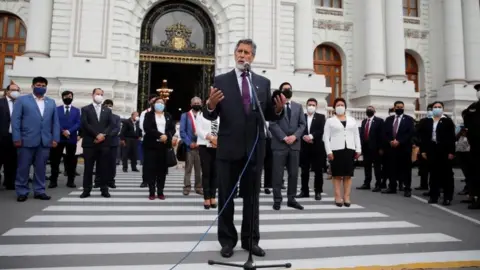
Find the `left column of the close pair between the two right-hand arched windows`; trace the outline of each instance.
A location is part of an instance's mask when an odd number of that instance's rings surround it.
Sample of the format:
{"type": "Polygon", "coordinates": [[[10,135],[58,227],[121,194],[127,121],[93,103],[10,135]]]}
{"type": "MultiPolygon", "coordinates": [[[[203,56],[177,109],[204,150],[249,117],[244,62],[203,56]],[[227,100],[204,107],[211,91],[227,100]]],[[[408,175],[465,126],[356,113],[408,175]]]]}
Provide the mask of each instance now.
{"type": "Polygon", "coordinates": [[[364,1],[365,78],[384,78],[385,32],[383,29],[382,0],[364,1]]]}

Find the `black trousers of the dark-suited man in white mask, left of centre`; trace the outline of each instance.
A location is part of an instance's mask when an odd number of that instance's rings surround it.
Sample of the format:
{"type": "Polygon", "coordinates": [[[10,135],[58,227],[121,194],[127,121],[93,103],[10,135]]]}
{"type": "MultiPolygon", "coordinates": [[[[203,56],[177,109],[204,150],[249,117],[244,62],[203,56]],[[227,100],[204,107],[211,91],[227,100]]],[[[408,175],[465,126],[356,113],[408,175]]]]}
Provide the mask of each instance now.
{"type": "Polygon", "coordinates": [[[92,190],[93,167],[95,166],[95,176],[98,179],[100,189],[108,190],[107,179],[109,175],[110,147],[94,146],[83,148],[83,158],[85,159],[83,172],[83,190],[90,192],[92,190]]]}

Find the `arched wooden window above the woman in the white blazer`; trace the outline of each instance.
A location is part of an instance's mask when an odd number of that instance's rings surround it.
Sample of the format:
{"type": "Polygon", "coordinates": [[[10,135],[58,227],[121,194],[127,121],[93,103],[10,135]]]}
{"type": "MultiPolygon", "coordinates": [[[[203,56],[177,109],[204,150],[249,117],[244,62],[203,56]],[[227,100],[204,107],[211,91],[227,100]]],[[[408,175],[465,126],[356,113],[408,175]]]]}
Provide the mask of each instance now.
{"type": "Polygon", "coordinates": [[[342,96],[342,58],[338,51],[329,45],[319,45],[313,54],[315,73],[325,76],[326,86],[332,88],[327,100],[328,106],[342,96]]]}

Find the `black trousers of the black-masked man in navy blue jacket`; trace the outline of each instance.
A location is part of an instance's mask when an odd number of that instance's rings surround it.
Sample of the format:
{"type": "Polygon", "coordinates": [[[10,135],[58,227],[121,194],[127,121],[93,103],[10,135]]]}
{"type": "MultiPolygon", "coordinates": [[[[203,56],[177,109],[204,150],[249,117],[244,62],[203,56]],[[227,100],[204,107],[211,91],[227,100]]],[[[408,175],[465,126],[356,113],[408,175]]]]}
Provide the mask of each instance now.
{"type": "Polygon", "coordinates": [[[57,183],[58,174],[60,173],[60,161],[62,160],[62,156],[63,164],[68,177],[68,183],[73,183],[75,181],[77,170],[77,157],[75,156],[76,152],[76,143],[59,143],[57,147],[50,149],[50,168],[52,169],[50,181],[52,183],[57,183]],[[64,149],[65,155],[63,155],[64,149]]]}

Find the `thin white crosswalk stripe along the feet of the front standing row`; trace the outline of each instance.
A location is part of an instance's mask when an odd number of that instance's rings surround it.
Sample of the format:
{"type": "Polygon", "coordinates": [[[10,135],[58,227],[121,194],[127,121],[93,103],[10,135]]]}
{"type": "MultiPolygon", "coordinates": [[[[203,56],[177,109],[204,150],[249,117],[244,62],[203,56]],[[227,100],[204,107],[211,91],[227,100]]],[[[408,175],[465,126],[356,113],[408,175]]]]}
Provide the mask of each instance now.
{"type": "MultiPolygon", "coordinates": [[[[129,203],[161,203],[159,200],[149,200],[148,194],[145,194],[145,198],[122,198],[122,197],[111,197],[111,198],[103,198],[103,197],[88,197],[88,198],[74,198],[74,197],[65,197],[58,200],[59,202],[111,202],[111,203],[119,203],[119,202],[129,202],[129,203]]],[[[169,198],[167,197],[166,200],[168,202],[203,202],[202,196],[185,196],[183,198],[169,198]]],[[[334,198],[322,198],[323,202],[333,202],[334,198]]],[[[235,203],[242,201],[241,198],[235,200],[235,203]]],[[[297,198],[298,202],[307,202],[312,201],[312,198],[297,198]]],[[[273,203],[272,197],[260,197],[260,202],[271,202],[273,203]]]]}

